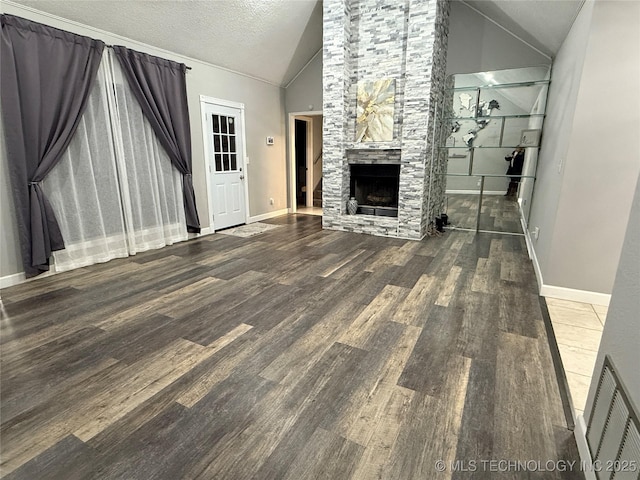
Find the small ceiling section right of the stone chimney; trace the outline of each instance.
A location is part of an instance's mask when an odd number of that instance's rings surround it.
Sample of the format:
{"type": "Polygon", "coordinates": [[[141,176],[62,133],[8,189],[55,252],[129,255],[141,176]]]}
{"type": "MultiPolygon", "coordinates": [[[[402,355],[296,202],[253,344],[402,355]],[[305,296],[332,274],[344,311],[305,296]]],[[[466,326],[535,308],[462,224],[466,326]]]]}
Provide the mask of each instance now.
{"type": "Polygon", "coordinates": [[[549,57],[555,57],[584,0],[464,0],[549,57]]]}

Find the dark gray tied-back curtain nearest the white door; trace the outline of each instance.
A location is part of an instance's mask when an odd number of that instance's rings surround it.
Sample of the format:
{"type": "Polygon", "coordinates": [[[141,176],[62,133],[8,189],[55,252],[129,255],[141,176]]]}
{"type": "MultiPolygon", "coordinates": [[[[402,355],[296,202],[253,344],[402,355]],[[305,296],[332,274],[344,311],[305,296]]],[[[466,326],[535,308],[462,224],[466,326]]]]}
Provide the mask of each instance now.
{"type": "Polygon", "coordinates": [[[187,107],[187,67],[145,53],[115,46],[129,86],[149,119],[171,163],[182,173],[184,208],[189,232],[200,233],[191,178],[191,126],[187,107]]]}

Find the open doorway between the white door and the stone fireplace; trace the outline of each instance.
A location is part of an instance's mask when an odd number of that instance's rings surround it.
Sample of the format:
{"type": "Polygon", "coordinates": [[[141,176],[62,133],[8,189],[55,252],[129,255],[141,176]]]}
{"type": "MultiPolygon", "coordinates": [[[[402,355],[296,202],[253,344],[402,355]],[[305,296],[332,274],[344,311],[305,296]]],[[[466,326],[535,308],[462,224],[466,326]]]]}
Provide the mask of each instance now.
{"type": "Polygon", "coordinates": [[[322,215],[322,112],[289,114],[291,213],[322,215]]]}

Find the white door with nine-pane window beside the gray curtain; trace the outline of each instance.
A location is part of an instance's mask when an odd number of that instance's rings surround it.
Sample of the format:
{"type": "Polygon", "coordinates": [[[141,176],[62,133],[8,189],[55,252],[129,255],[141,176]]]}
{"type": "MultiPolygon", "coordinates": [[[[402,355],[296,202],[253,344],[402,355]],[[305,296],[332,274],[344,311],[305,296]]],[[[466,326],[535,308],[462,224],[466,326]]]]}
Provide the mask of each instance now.
{"type": "Polygon", "coordinates": [[[239,108],[204,104],[214,228],[246,223],[242,115],[239,108]]]}

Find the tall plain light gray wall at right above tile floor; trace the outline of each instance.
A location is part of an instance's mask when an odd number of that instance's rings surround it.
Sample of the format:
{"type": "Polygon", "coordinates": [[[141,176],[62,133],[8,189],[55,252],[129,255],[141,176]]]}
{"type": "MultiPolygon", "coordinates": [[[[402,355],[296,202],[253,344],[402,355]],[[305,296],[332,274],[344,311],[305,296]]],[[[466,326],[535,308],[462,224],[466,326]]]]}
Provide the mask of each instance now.
{"type": "Polygon", "coordinates": [[[529,220],[543,293],[611,293],[640,172],[638,58],[640,3],[585,2],[554,62],[529,220]]]}

